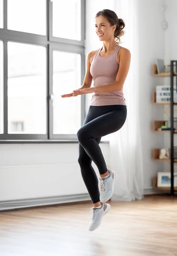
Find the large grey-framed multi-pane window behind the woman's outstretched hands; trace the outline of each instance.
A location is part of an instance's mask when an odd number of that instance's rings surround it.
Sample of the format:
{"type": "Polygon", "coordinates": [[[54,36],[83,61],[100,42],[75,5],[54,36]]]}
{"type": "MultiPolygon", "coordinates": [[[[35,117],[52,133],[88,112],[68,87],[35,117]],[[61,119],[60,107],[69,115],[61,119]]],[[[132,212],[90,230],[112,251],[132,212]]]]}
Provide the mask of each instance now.
{"type": "Polygon", "coordinates": [[[85,96],[61,95],[83,83],[84,12],[85,0],[0,0],[0,142],[77,140],[85,96]]]}

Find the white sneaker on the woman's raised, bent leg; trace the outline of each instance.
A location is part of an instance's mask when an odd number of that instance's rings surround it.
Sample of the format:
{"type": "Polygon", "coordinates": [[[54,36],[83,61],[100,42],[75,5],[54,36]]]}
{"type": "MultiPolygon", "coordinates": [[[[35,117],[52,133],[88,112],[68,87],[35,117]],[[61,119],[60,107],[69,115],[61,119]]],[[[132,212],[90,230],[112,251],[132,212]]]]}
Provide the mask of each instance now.
{"type": "Polygon", "coordinates": [[[108,170],[108,177],[100,178],[100,201],[107,202],[114,193],[114,182],[117,180],[117,173],[108,170]]]}

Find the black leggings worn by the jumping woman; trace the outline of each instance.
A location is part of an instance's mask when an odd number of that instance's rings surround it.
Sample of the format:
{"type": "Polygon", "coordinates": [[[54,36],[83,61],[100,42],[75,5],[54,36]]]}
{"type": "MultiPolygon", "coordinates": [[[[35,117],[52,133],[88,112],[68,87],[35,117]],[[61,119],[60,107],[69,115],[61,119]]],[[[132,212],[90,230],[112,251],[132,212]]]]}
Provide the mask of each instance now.
{"type": "Polygon", "coordinates": [[[100,192],[97,175],[91,162],[94,161],[100,174],[107,172],[107,166],[99,146],[101,137],[120,130],[126,121],[126,116],[127,108],[124,105],[90,106],[83,127],[77,132],[78,162],[93,204],[100,201],[100,192]]]}

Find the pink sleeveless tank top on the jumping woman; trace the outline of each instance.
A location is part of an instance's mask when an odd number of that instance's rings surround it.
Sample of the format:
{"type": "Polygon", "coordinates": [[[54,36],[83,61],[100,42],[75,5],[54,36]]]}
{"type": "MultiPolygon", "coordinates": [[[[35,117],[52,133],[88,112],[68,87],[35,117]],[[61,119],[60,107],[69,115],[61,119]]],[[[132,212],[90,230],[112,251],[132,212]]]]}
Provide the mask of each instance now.
{"type": "MultiPolygon", "coordinates": [[[[103,48],[103,47],[102,47],[103,48]]],[[[91,58],[90,73],[94,80],[94,86],[110,84],[116,81],[119,64],[117,63],[117,54],[121,48],[117,45],[114,52],[107,57],[101,57],[100,51],[97,50],[91,58]]],[[[122,90],[111,91],[107,93],[93,93],[91,106],[104,106],[104,105],[126,105],[126,101],[122,90]]]]}

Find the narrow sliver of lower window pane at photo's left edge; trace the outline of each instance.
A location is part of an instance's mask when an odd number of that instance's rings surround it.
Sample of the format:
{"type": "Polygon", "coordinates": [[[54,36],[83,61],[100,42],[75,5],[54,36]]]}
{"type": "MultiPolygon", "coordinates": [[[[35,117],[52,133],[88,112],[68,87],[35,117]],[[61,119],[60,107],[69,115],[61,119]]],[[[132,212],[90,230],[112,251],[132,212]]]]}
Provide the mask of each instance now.
{"type": "Polygon", "coordinates": [[[0,41],[0,134],[3,134],[3,42],[0,41]]]}

